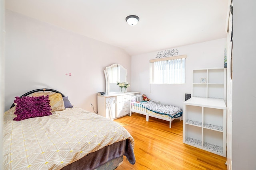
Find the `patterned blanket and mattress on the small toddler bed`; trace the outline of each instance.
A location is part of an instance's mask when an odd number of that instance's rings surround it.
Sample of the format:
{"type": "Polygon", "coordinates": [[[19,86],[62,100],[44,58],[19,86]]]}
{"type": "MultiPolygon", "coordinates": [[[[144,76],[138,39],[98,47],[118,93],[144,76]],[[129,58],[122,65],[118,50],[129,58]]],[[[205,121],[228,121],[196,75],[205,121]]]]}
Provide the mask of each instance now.
{"type": "Polygon", "coordinates": [[[171,118],[177,118],[182,116],[182,108],[178,106],[157,104],[153,101],[143,102],[143,105],[150,111],[162,115],[168,115],[171,118]]]}

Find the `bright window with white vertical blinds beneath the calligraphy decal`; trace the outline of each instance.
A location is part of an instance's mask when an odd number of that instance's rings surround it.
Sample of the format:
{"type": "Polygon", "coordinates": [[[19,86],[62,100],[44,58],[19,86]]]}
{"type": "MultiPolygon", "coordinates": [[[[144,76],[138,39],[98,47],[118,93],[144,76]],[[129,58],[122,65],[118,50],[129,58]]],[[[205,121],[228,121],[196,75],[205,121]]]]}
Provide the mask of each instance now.
{"type": "Polygon", "coordinates": [[[186,55],[150,60],[151,84],[184,84],[186,55]]]}

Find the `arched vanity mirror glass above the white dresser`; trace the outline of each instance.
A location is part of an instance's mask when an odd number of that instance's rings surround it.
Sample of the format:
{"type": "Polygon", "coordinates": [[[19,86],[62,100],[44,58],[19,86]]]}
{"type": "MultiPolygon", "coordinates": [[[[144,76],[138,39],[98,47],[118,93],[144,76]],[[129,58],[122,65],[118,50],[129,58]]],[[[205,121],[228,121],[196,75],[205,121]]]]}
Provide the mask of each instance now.
{"type": "Polygon", "coordinates": [[[120,92],[117,82],[126,82],[127,70],[120,64],[112,64],[104,70],[106,78],[106,94],[120,92]]]}

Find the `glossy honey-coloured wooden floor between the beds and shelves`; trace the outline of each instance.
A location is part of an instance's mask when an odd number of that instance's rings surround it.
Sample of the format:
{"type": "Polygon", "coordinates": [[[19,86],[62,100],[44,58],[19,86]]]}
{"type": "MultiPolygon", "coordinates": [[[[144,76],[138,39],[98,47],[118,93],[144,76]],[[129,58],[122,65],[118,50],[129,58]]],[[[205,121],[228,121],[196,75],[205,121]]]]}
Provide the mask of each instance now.
{"type": "Polygon", "coordinates": [[[136,163],[124,162],[116,170],[226,170],[226,158],[182,142],[183,121],[169,122],[133,113],[114,121],[125,127],[135,141],[136,163]]]}

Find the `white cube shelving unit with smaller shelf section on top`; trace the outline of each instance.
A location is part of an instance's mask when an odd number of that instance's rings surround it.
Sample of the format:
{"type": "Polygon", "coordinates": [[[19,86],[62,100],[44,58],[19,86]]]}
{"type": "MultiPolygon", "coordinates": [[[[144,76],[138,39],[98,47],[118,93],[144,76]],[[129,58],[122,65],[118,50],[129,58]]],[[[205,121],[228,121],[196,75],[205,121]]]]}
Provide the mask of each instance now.
{"type": "Polygon", "coordinates": [[[183,143],[226,157],[225,100],[225,68],[193,70],[192,98],[183,107],[183,143]]]}

